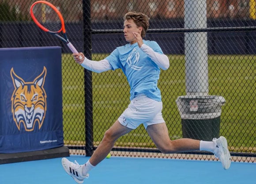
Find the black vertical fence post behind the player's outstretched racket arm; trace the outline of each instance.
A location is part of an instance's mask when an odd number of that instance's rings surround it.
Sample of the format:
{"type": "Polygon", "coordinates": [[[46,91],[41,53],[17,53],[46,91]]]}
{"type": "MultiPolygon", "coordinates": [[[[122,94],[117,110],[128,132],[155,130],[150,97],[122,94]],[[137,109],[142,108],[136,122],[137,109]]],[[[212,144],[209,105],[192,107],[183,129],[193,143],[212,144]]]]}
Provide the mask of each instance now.
{"type": "MultiPolygon", "coordinates": [[[[91,60],[91,19],[90,0],[83,0],[83,53],[91,60]]],[[[92,106],[92,74],[84,69],[85,91],[85,153],[93,154],[93,106],[92,106]]]]}

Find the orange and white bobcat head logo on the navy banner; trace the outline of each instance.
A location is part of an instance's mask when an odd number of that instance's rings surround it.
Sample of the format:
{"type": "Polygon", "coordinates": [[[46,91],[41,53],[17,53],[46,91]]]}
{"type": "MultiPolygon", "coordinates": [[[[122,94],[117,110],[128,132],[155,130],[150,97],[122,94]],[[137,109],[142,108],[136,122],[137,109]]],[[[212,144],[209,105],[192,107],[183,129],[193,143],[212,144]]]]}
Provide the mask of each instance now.
{"type": "Polygon", "coordinates": [[[41,128],[46,113],[46,93],[44,89],[46,68],[34,79],[25,82],[11,68],[11,78],[15,90],[11,96],[11,112],[17,128],[23,123],[26,131],[33,131],[36,122],[41,128]]]}

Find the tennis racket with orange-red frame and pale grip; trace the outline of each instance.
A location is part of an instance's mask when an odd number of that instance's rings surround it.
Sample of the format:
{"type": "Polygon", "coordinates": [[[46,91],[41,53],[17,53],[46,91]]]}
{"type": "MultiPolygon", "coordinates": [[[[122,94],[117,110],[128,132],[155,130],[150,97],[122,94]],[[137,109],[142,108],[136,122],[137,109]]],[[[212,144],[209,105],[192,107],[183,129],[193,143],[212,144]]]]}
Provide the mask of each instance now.
{"type": "Polygon", "coordinates": [[[78,53],[68,40],[63,16],[53,4],[45,0],[38,0],[30,7],[30,15],[34,23],[36,23],[41,30],[60,38],[68,45],[72,53],[78,53]],[[62,36],[60,36],[60,34],[62,36]]]}

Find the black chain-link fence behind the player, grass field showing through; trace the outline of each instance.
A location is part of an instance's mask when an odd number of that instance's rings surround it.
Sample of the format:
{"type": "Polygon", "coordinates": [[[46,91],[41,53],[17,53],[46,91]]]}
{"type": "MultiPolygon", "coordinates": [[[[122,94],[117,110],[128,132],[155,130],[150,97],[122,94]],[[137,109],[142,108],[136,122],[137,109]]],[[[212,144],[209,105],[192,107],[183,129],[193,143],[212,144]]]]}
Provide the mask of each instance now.
{"type": "MultiPolygon", "coordinates": [[[[68,37],[88,58],[101,60],[126,44],[123,15],[141,11],[150,20],[146,40],[169,57],[161,71],[163,117],[171,139],[224,135],[233,161],[256,156],[255,0],[49,0],[64,15],[68,37]]],[[[32,22],[33,0],[0,0],[0,48],[63,48],[64,143],[90,155],[129,104],[121,70],[84,71],[57,38],[32,22]]],[[[117,140],[113,155],[214,159],[204,152],[161,154],[143,126],[117,140]]]]}

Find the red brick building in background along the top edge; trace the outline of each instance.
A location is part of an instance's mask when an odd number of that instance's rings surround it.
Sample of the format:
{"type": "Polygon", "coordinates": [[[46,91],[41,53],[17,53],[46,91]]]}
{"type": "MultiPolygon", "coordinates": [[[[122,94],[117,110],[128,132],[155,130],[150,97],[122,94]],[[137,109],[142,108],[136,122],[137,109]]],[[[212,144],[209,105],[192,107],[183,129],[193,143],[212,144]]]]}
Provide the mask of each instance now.
{"type": "MultiPolygon", "coordinates": [[[[17,14],[28,15],[35,0],[8,0],[17,14]]],[[[49,0],[60,8],[64,19],[82,19],[82,0],[49,0]]],[[[207,0],[208,18],[248,19],[255,0],[207,0]]],[[[184,1],[181,0],[90,0],[92,21],[120,19],[128,11],[142,11],[151,18],[171,19],[184,17],[184,1]]]]}

